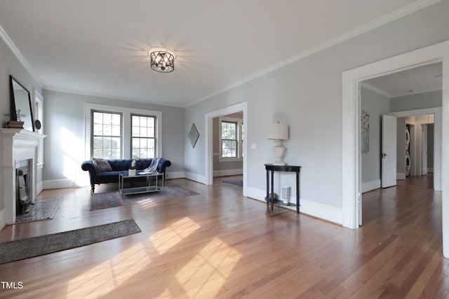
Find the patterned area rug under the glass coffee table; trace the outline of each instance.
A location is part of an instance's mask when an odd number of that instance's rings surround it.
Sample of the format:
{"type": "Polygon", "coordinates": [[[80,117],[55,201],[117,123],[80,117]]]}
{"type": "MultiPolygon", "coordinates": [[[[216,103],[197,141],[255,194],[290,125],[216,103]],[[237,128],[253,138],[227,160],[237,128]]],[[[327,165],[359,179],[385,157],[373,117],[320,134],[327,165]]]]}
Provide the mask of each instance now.
{"type": "Polygon", "coordinates": [[[133,204],[147,204],[176,197],[198,195],[198,193],[181,186],[165,186],[163,190],[152,193],[140,193],[124,195],[123,199],[119,191],[106,193],[93,193],[91,195],[91,211],[112,207],[125,207],[133,204]]]}

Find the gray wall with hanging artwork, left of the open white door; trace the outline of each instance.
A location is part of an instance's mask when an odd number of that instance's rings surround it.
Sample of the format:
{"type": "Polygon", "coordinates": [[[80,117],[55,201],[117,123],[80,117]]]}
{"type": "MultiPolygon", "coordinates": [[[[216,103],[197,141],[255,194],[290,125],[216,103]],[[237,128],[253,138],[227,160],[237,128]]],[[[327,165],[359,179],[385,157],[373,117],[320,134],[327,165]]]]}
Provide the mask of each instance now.
{"type": "Polygon", "coordinates": [[[370,150],[361,153],[362,183],[380,180],[382,115],[389,113],[389,98],[361,88],[361,110],[370,113],[370,150]]]}

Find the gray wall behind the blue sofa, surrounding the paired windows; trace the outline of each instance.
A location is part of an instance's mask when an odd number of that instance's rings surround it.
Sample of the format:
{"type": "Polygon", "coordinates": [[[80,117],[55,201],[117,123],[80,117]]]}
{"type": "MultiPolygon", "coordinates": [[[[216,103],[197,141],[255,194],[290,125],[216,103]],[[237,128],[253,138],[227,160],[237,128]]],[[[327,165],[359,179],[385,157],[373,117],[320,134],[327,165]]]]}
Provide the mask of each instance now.
{"type": "MultiPolygon", "coordinates": [[[[87,172],[81,170],[85,157],[85,116],[86,103],[121,106],[162,112],[162,153],[161,158],[172,162],[167,172],[184,171],[184,109],[119,99],[91,97],[65,92],[43,90],[45,167],[44,181],[88,179],[87,172]]],[[[90,158],[90,157],[87,157],[90,158]]]]}

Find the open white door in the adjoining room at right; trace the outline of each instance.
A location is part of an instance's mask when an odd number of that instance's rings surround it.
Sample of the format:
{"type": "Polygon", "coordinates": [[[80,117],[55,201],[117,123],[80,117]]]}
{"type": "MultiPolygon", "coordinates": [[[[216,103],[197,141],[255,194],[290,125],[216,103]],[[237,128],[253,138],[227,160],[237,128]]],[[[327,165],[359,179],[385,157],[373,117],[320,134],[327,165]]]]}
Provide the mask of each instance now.
{"type": "Polygon", "coordinates": [[[382,188],[396,186],[396,117],[382,116],[382,188]]]}

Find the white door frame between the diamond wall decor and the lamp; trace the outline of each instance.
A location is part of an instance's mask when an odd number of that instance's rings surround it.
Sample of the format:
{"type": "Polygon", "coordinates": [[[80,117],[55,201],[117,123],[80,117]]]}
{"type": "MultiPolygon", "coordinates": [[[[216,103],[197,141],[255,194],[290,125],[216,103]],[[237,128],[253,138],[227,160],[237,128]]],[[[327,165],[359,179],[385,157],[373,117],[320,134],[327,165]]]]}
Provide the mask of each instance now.
{"type": "MultiPolygon", "coordinates": [[[[241,102],[239,104],[235,104],[232,106],[228,106],[222,109],[217,109],[215,111],[210,111],[206,113],[205,121],[206,125],[204,126],[206,128],[205,136],[206,136],[206,142],[205,142],[205,153],[206,153],[206,185],[212,185],[213,184],[213,118],[219,117],[219,116],[226,116],[228,114],[236,113],[239,111],[243,111],[243,132],[246,137],[248,137],[248,102],[241,102]]],[[[243,196],[246,196],[246,190],[247,190],[247,179],[248,179],[248,146],[247,146],[247,139],[243,139],[243,196]]]]}

